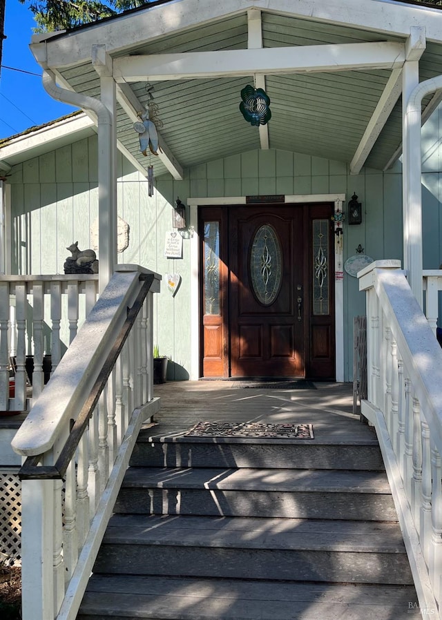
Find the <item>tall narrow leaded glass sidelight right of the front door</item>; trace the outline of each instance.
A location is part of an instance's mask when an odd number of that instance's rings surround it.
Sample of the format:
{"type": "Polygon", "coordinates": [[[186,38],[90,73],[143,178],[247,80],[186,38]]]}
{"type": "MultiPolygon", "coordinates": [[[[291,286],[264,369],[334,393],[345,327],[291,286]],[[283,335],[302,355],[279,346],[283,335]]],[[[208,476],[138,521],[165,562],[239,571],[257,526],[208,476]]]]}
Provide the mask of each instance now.
{"type": "Polygon", "coordinates": [[[313,220],[313,313],[329,314],[329,220],[313,220]]]}

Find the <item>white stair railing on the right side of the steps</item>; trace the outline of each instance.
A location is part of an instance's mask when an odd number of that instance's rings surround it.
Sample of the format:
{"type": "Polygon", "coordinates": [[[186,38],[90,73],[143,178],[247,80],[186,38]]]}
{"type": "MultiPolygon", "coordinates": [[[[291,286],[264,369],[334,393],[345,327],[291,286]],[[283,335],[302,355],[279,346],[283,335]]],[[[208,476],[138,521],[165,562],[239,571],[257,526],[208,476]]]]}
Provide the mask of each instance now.
{"type": "Polygon", "coordinates": [[[442,349],[400,266],[376,261],[358,273],[367,293],[361,412],[376,428],[421,614],[440,618],[442,349]]]}

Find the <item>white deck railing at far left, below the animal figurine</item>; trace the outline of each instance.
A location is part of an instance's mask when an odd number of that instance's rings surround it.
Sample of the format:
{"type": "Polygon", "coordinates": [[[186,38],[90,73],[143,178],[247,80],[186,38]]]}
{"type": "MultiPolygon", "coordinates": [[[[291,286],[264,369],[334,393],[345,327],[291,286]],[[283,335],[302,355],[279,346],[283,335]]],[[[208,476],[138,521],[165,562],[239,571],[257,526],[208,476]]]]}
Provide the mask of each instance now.
{"type": "Polygon", "coordinates": [[[0,276],[0,411],[30,409],[44,389],[44,365],[50,372],[57,368],[97,295],[97,275],[0,276]],[[9,394],[11,362],[15,385],[9,394]]]}

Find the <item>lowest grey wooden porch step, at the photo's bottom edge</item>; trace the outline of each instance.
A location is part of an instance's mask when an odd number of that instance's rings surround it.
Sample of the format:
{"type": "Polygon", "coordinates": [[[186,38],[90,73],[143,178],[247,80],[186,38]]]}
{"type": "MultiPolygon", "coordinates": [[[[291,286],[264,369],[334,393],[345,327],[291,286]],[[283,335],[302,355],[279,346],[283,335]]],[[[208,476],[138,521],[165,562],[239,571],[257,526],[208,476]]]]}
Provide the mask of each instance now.
{"type": "Polygon", "coordinates": [[[94,575],[81,620],[410,620],[414,588],[94,575]]]}

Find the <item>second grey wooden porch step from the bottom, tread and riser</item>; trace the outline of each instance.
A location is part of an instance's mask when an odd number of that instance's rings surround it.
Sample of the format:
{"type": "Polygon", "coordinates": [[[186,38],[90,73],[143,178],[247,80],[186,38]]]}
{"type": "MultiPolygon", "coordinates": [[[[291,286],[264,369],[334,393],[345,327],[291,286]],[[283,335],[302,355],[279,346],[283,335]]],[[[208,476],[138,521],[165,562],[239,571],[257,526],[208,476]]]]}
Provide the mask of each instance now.
{"type": "Polygon", "coordinates": [[[413,583],[396,523],[225,516],[117,515],[109,523],[94,571],[413,583]]]}

